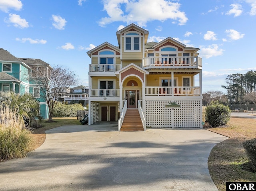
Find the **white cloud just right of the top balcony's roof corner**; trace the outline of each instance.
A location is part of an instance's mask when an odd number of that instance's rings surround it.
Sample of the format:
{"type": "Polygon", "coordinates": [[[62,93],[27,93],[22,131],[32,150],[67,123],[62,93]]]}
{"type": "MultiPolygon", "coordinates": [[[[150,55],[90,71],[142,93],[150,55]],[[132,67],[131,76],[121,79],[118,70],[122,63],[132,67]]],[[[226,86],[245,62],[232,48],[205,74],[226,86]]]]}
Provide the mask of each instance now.
{"type": "Polygon", "coordinates": [[[208,47],[200,46],[200,57],[210,58],[213,56],[221,56],[223,55],[224,49],[220,49],[218,45],[212,44],[208,47]]]}

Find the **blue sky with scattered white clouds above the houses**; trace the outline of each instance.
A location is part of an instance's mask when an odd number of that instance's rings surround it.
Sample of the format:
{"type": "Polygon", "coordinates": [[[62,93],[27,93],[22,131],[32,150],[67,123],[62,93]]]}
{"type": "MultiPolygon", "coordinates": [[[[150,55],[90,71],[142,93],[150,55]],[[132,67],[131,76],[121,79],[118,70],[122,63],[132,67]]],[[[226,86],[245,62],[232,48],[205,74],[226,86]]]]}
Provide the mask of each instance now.
{"type": "Polygon", "coordinates": [[[0,47],[62,65],[88,85],[86,52],[134,23],[148,42],[172,37],[200,48],[203,92],[232,73],[256,71],[256,0],[0,0],[0,47]]]}

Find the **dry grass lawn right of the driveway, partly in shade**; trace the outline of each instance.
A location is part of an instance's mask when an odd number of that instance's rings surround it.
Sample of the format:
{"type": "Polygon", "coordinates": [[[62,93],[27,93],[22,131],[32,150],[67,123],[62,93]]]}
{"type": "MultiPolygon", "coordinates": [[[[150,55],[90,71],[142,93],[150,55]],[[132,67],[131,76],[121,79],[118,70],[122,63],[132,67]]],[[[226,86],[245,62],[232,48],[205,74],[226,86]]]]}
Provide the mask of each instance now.
{"type": "Polygon", "coordinates": [[[227,126],[206,128],[230,137],[217,144],[208,159],[210,175],[220,191],[226,190],[226,182],[255,182],[256,173],[248,169],[249,159],[243,148],[244,140],[256,138],[256,120],[231,117],[227,126]]]}

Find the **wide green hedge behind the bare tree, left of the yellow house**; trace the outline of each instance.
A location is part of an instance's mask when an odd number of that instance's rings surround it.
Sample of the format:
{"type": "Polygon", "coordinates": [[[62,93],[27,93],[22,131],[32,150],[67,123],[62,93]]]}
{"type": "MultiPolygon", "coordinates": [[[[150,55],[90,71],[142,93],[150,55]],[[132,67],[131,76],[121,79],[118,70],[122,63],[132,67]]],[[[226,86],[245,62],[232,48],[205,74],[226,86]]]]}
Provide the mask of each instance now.
{"type": "Polygon", "coordinates": [[[84,110],[81,104],[65,105],[58,102],[54,109],[53,117],[76,117],[78,110],[84,110]]]}

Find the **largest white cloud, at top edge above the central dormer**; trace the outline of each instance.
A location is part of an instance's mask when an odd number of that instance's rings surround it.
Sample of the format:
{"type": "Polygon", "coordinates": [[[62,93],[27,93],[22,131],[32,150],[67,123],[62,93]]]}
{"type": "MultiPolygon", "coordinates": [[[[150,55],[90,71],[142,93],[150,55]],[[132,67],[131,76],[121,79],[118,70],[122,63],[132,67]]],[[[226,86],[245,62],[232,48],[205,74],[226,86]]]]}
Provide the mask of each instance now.
{"type": "Polygon", "coordinates": [[[184,25],[188,21],[186,14],[180,11],[178,2],[166,0],[104,0],[104,10],[108,16],[101,18],[99,25],[106,26],[112,22],[121,21],[137,23],[144,27],[153,20],[164,21],[172,19],[184,25]]]}

